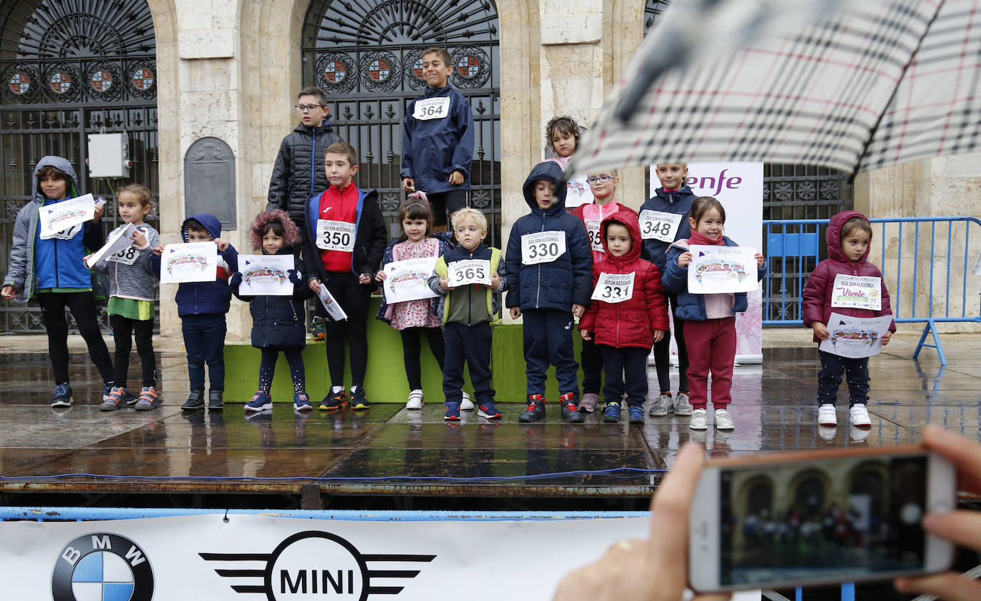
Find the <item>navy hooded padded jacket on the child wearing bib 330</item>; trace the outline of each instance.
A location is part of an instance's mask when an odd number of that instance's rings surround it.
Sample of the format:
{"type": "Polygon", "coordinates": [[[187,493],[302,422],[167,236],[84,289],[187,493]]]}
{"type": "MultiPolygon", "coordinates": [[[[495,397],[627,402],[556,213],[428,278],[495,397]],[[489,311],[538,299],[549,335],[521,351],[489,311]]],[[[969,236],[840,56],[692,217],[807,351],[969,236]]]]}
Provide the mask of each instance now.
{"type": "Polygon", "coordinates": [[[532,212],[511,227],[504,262],[507,267],[507,298],[510,307],[558,309],[570,311],[572,305],[589,305],[593,292],[593,251],[586,225],[565,211],[565,187],[552,192],[553,203],[545,210],[535,200],[535,182],[562,180],[562,168],[556,163],[539,163],[525,179],[525,202],[532,212]],[[521,237],[540,231],[561,231],[565,235],[565,252],[549,263],[525,265],[521,257],[521,237]]]}

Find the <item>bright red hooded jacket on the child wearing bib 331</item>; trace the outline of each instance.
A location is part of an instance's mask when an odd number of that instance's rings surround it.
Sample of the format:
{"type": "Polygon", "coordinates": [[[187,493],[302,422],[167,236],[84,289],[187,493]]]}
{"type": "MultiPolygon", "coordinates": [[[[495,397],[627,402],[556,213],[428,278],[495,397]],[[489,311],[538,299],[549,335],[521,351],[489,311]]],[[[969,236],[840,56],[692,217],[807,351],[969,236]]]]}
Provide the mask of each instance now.
{"type": "Polygon", "coordinates": [[[603,248],[606,248],[606,226],[614,223],[627,226],[633,246],[622,257],[614,257],[606,249],[606,258],[593,265],[593,286],[595,288],[601,273],[634,272],[634,294],[622,303],[592,301],[579,328],[593,332],[596,344],[649,349],[654,342],[654,330],[668,330],[668,309],[664,302],[661,274],[653,263],[641,259],[641,226],[633,212],[618,211],[603,220],[599,228],[603,233],[603,248]]]}

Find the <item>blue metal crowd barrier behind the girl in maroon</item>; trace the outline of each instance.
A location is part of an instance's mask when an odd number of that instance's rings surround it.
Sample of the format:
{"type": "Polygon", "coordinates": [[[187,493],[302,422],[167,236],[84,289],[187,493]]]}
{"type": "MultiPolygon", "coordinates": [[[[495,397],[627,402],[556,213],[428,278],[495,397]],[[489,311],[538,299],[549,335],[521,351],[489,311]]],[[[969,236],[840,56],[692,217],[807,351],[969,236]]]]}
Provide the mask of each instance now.
{"type": "MultiPolygon", "coordinates": [[[[981,240],[981,221],[972,217],[881,218],[869,221],[873,227],[872,246],[873,249],[878,246],[879,251],[872,253],[871,261],[879,267],[886,280],[896,323],[924,324],[913,359],[926,346],[937,349],[941,365],[947,365],[937,324],[981,322],[981,308],[973,291],[970,301],[967,296],[967,277],[979,246],[975,242],[975,247],[971,248],[972,233],[973,239],[981,240]],[[924,237],[929,235],[929,255],[925,252],[926,241],[920,240],[921,229],[926,230],[927,226],[929,232],[924,231],[923,234],[924,237]],[[912,248],[910,251],[910,242],[906,242],[908,256],[904,256],[904,236],[910,235],[912,248]],[[922,286],[926,278],[929,278],[929,287],[918,295],[917,286],[922,286]],[[943,287],[938,288],[941,282],[943,287]],[[927,297],[926,302],[920,302],[917,306],[917,296],[922,295],[927,297]],[[952,302],[959,303],[959,311],[951,311],[952,302]],[[927,334],[932,335],[933,344],[926,343],[927,334]]],[[[807,276],[824,254],[822,226],[827,224],[828,220],[763,222],[763,254],[770,266],[763,289],[763,326],[803,325],[803,288],[807,276]]]]}

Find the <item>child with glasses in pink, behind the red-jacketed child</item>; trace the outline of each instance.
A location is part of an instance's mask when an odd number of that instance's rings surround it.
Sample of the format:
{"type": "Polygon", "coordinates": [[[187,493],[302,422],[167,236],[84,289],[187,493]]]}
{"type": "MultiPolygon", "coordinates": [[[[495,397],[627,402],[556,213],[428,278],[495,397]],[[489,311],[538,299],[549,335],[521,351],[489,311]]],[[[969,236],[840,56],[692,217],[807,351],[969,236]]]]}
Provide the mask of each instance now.
{"type": "MultiPolygon", "coordinates": [[[[561,142],[560,142],[561,144],[561,142]]],[[[561,148],[561,145],[559,146],[561,148]]],[[[579,218],[590,236],[590,244],[593,248],[593,265],[602,261],[606,256],[604,250],[604,240],[599,230],[599,224],[607,217],[619,211],[629,212],[637,217],[633,209],[625,207],[613,200],[620,178],[616,170],[600,171],[590,174],[587,177],[590,190],[593,192],[594,202],[592,204],[580,205],[570,211],[579,218]]],[[[635,220],[636,221],[636,220],[635,220]]],[[[638,230],[640,231],[640,230],[638,230]]],[[[641,252],[640,244],[637,251],[641,252]]],[[[658,272],[658,277],[660,272],[658,272]]],[[[585,413],[593,413],[596,402],[599,400],[599,382],[603,371],[603,359],[599,349],[593,341],[593,337],[583,338],[583,350],[580,353],[580,361],[583,365],[583,397],[579,401],[579,410],[585,413]]]]}

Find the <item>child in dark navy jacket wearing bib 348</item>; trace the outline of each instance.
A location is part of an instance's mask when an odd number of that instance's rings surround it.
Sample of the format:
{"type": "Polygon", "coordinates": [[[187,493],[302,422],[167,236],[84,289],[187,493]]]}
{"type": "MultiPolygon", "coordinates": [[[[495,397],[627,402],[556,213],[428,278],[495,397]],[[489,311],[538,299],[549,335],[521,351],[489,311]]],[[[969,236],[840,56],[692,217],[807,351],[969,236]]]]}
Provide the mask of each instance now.
{"type": "MultiPolygon", "coordinates": [[[[685,183],[688,177],[688,164],[658,165],[654,172],[661,182],[661,187],[654,190],[654,195],[641,207],[641,221],[646,222],[646,217],[653,217],[650,212],[681,216],[674,232],[669,230],[666,237],[671,238],[672,241],[684,240],[692,233],[688,224],[688,214],[696,198],[692,188],[685,183]]],[[[644,252],[641,256],[656,265],[661,274],[664,274],[664,267],[667,263],[666,253],[671,242],[653,237],[653,228],[647,226],[645,231],[643,224],[641,234],[644,236],[644,252]]],[[[650,404],[650,415],[662,417],[674,412],[677,416],[690,416],[692,415],[692,403],[688,390],[688,350],[685,347],[685,322],[679,320],[676,315],[678,297],[674,294],[668,294],[666,300],[675,318],[674,338],[678,347],[678,396],[672,402],[671,377],[669,376],[671,339],[664,336],[654,343],[654,366],[657,370],[657,384],[660,386],[661,394],[650,404]]]]}

